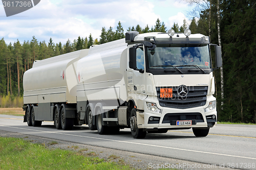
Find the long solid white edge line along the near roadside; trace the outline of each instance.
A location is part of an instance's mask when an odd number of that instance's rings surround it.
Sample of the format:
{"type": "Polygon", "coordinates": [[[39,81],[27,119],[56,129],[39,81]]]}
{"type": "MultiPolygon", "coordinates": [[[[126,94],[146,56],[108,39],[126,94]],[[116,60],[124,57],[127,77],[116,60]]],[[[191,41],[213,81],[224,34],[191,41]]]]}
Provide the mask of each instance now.
{"type": "Polygon", "coordinates": [[[146,145],[146,146],[150,146],[150,147],[166,148],[166,149],[173,149],[173,150],[180,150],[180,151],[189,151],[189,152],[197,152],[197,153],[203,153],[203,154],[221,155],[221,156],[229,156],[229,157],[246,158],[246,159],[254,159],[254,160],[256,160],[256,158],[250,158],[250,157],[244,157],[244,156],[227,155],[227,154],[218,154],[218,153],[210,153],[210,152],[204,152],[204,151],[186,150],[186,149],[172,148],[172,147],[163,147],[163,146],[154,145],[154,144],[145,144],[145,143],[137,143],[137,142],[129,142],[129,141],[121,141],[121,140],[113,140],[113,139],[104,139],[104,138],[98,138],[98,137],[81,136],[81,135],[73,135],[73,134],[57,133],[57,132],[49,132],[49,131],[41,131],[41,130],[26,129],[26,128],[16,128],[16,127],[2,126],[2,125],[0,125],[0,126],[1,126],[1,127],[7,127],[7,128],[31,130],[31,131],[37,131],[37,132],[47,132],[47,133],[54,133],[54,134],[61,134],[61,135],[69,135],[69,136],[76,136],[76,137],[85,137],[85,138],[100,139],[100,140],[109,140],[109,141],[115,141],[115,142],[139,144],[139,145],[146,145]]]}

